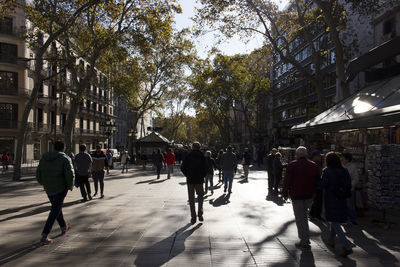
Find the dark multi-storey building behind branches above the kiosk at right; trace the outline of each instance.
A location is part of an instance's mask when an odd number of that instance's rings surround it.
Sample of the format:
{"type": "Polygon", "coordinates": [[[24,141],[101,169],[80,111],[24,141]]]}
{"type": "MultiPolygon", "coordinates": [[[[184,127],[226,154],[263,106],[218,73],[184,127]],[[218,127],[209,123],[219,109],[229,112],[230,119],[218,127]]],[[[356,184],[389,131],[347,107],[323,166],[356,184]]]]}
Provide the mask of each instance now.
{"type": "MultiPolygon", "coordinates": [[[[347,28],[341,33],[345,45],[352,47],[351,58],[364,54],[373,47],[373,25],[371,16],[350,13],[347,28]],[[354,43],[356,41],[356,47],[354,43]]],[[[324,109],[327,109],[342,99],[339,82],[336,78],[336,64],[333,43],[329,33],[317,31],[314,35],[314,47],[318,49],[324,45],[329,53],[324,55],[321,75],[323,76],[324,109]]],[[[297,62],[315,73],[312,63],[311,47],[301,38],[290,43],[290,52],[297,62]]],[[[303,142],[301,135],[293,134],[292,126],[304,123],[318,115],[318,102],[315,88],[302,77],[291,64],[284,64],[278,55],[273,57],[273,71],[271,87],[273,90],[272,131],[274,145],[294,146],[303,142]]],[[[356,92],[365,86],[364,76],[360,75],[350,85],[350,93],[356,92]]]]}

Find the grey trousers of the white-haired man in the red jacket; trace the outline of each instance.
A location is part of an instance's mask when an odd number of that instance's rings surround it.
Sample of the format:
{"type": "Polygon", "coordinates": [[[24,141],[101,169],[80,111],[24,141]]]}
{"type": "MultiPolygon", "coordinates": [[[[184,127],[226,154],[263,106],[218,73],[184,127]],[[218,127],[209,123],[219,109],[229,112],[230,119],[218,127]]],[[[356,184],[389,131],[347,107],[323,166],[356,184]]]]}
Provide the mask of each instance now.
{"type": "Polygon", "coordinates": [[[302,245],[310,244],[310,229],[308,227],[308,212],[312,205],[310,199],[293,199],[293,212],[296,220],[297,232],[302,245]]]}

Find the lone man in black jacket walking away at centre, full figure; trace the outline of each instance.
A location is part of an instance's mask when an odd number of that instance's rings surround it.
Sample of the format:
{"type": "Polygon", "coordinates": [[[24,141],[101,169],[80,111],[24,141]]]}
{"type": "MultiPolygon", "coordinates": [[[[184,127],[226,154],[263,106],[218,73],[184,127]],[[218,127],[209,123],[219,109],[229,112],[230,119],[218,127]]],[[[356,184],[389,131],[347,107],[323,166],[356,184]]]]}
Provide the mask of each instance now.
{"type": "Polygon", "coordinates": [[[206,159],[200,151],[200,143],[194,142],[192,151],[186,156],[181,165],[181,171],[186,176],[188,187],[191,223],[196,223],[196,209],[194,205],[194,191],[197,193],[199,203],[198,216],[202,222],[203,219],[203,199],[204,199],[204,177],[207,173],[206,159]]]}

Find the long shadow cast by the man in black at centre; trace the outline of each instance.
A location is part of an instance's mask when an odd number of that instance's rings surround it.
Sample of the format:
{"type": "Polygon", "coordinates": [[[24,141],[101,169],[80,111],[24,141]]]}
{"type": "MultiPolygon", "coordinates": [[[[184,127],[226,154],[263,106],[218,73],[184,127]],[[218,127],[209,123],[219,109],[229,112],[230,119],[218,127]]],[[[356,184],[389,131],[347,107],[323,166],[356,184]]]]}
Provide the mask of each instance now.
{"type": "Polygon", "coordinates": [[[135,266],[161,266],[174,257],[178,256],[182,252],[185,251],[185,240],[194,233],[197,229],[199,229],[202,224],[199,223],[192,229],[188,228],[192,224],[188,223],[179,230],[177,230],[174,234],[166,237],[165,239],[151,245],[150,247],[144,248],[138,251],[137,258],[134,262],[135,266]],[[173,239],[172,244],[170,241],[173,239]],[[163,254],[164,251],[169,247],[168,256],[158,255],[163,254]]]}

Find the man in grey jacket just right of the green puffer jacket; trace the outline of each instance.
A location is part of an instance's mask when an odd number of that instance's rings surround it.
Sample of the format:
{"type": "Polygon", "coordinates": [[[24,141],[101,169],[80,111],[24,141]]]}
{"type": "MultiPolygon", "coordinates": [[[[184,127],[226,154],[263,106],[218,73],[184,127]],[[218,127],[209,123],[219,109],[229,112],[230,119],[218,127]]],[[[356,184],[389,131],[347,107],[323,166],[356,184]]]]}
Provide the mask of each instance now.
{"type": "Polygon", "coordinates": [[[92,168],[92,157],[86,152],[86,145],[79,146],[79,153],[75,156],[76,180],[81,189],[83,202],[91,200],[89,174],[92,168]],[[86,187],[86,189],[85,189],[86,187]]]}

